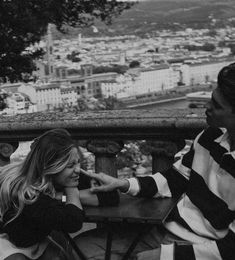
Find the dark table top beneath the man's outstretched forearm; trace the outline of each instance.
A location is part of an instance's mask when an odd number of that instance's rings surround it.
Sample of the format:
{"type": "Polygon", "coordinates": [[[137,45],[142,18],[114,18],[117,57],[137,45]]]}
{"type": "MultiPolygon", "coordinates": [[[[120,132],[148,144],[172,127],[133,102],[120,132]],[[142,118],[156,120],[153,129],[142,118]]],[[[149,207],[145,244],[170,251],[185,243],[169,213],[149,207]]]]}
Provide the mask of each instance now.
{"type": "Polygon", "coordinates": [[[135,222],[162,224],[177,198],[138,198],[120,194],[120,204],[113,207],[84,207],[85,222],[135,222]]]}

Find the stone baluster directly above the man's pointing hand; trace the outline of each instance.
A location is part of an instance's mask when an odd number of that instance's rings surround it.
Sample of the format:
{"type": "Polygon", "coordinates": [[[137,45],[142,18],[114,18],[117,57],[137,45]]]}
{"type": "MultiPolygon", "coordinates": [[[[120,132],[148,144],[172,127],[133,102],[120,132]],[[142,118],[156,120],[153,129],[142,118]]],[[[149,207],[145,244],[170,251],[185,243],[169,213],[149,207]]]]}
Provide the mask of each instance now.
{"type": "Polygon", "coordinates": [[[122,141],[92,140],[87,142],[87,150],[95,155],[95,172],[104,172],[117,177],[116,157],[124,144],[122,141]]]}

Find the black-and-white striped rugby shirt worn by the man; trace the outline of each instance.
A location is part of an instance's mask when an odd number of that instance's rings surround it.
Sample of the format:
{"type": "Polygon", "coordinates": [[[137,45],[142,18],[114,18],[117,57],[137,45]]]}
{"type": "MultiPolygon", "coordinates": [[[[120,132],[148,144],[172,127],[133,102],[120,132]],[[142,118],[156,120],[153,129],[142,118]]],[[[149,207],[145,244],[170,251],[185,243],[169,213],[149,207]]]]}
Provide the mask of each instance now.
{"type": "Polygon", "coordinates": [[[230,152],[224,128],[200,133],[166,172],[129,183],[133,196],[182,194],[165,227],[190,243],[162,245],[161,260],[235,259],[235,151],[230,152]]]}

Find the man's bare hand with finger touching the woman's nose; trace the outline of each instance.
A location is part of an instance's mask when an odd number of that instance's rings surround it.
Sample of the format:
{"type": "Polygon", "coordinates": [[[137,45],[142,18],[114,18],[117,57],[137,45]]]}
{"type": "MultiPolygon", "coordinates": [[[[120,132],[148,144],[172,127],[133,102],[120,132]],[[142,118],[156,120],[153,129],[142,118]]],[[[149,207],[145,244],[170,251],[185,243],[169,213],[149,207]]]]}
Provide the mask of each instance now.
{"type": "Polygon", "coordinates": [[[80,169],[80,173],[85,174],[100,184],[97,186],[92,186],[90,189],[91,192],[107,192],[115,189],[119,189],[121,192],[127,192],[130,186],[128,180],[117,179],[102,172],[97,174],[80,169]]]}

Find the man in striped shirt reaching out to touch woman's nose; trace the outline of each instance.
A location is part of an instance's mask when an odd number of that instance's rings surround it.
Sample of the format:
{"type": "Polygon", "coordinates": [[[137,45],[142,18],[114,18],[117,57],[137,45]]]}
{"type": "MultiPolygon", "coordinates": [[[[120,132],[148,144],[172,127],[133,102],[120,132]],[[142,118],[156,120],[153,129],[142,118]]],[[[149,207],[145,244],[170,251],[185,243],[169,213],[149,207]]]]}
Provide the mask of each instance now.
{"type": "Polygon", "coordinates": [[[169,170],[126,180],[91,174],[102,184],[94,192],[119,189],[133,196],[182,195],[165,222],[164,234],[156,228],[151,236],[155,241],[147,241],[149,235],[143,238],[149,249],[157,249],[140,253],[137,259],[235,259],[235,63],[219,72],[206,116],[209,127],[169,170]]]}

